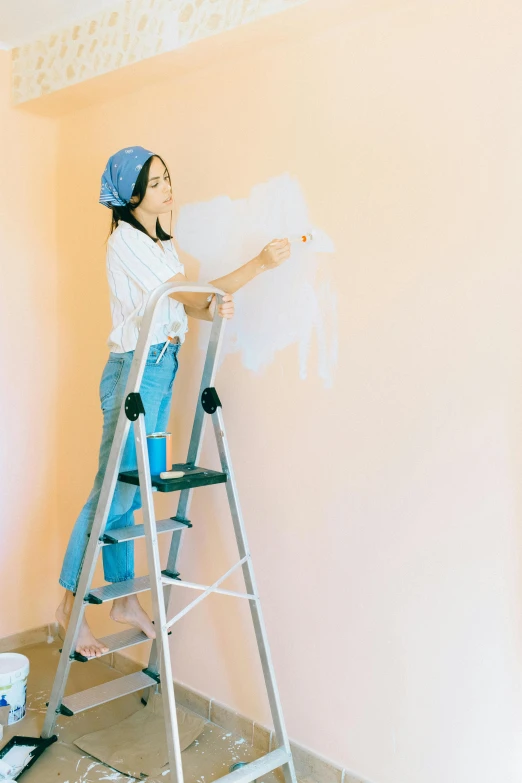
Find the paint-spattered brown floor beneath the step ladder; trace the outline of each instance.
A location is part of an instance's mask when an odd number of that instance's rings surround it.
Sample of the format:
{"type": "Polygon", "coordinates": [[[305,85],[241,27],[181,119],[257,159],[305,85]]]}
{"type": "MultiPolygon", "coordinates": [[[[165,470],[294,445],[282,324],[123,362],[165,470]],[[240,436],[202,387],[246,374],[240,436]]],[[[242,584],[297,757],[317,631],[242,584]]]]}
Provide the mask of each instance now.
{"type": "MultiPolygon", "coordinates": [[[[59,659],[59,643],[35,644],[16,652],[26,655],[31,663],[27,689],[27,713],[23,720],[9,726],[0,745],[15,734],[38,737],[45,716],[45,703],[59,659]]],[[[113,680],[121,675],[101,660],[73,663],[66,693],[75,693],[93,685],[113,680]]],[[[128,778],[83,753],[73,742],[83,734],[111,726],[138,709],[141,694],[125,696],[72,718],[60,716],[56,733],[58,742],[51,745],[22,778],[23,783],[129,783],[128,778]]],[[[211,783],[227,774],[231,764],[252,761],[262,756],[239,735],[209,723],[196,742],[183,752],[183,772],[186,783],[211,783]]],[[[169,776],[147,778],[148,783],[168,783],[169,776]]],[[[274,774],[265,775],[259,783],[277,783],[274,774]]]]}

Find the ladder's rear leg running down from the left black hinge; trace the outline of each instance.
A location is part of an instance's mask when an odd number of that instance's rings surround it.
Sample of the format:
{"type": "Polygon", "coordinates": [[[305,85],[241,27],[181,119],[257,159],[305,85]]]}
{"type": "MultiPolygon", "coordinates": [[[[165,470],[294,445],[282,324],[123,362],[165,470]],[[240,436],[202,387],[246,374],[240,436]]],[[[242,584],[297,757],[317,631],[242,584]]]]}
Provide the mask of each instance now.
{"type": "Polygon", "coordinates": [[[176,698],[174,695],[174,681],[172,675],[172,662],[163,596],[163,582],[161,577],[161,563],[158,549],[158,536],[154,513],[154,501],[152,498],[152,483],[150,477],[149,455],[147,452],[147,435],[145,430],[145,417],[140,415],[134,422],[134,435],[136,438],[136,455],[138,458],[138,474],[140,489],[142,492],[143,523],[145,529],[145,542],[147,548],[147,562],[149,566],[150,588],[152,594],[152,607],[156,627],[156,648],[160,658],[160,683],[163,696],[165,717],[165,730],[167,733],[167,749],[170,765],[170,780],[172,783],[183,783],[183,767],[181,762],[181,747],[179,743],[179,728],[176,713],[176,698]]]}

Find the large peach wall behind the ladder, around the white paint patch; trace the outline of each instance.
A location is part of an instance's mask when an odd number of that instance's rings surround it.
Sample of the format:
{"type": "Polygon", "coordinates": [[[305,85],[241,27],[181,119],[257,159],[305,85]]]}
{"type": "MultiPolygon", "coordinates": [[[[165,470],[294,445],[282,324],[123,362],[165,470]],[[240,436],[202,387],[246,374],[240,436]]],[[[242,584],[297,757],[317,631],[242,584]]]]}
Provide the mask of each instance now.
{"type": "MultiPolygon", "coordinates": [[[[321,8],[283,42],[274,19],[264,45],[60,121],[59,467],[78,468],[62,545],[99,442],[107,156],[158,150],[180,204],[290,172],[337,247],[335,384],[299,380],[292,347],[260,376],[229,357],[217,384],[290,736],[375,783],[516,783],[522,15],[389,0],[325,28],[321,8]]],[[[180,457],[200,364],[193,329],[180,457]]],[[[233,557],[219,489],[192,519],[183,574],[211,579],[233,557]]],[[[243,609],[216,597],[184,620],[174,675],[267,722],[243,609]]]]}

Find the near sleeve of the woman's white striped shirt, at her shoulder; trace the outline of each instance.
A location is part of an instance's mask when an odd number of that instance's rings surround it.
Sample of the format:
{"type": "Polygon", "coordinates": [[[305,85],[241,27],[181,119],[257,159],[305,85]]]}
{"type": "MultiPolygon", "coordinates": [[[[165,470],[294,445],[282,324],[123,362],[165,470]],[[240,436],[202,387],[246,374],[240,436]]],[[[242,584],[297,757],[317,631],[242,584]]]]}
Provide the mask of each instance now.
{"type": "Polygon", "coordinates": [[[120,266],[143,291],[150,292],[176,274],[183,274],[177,254],[163,252],[140,231],[115,232],[108,243],[108,261],[120,266]]]}

